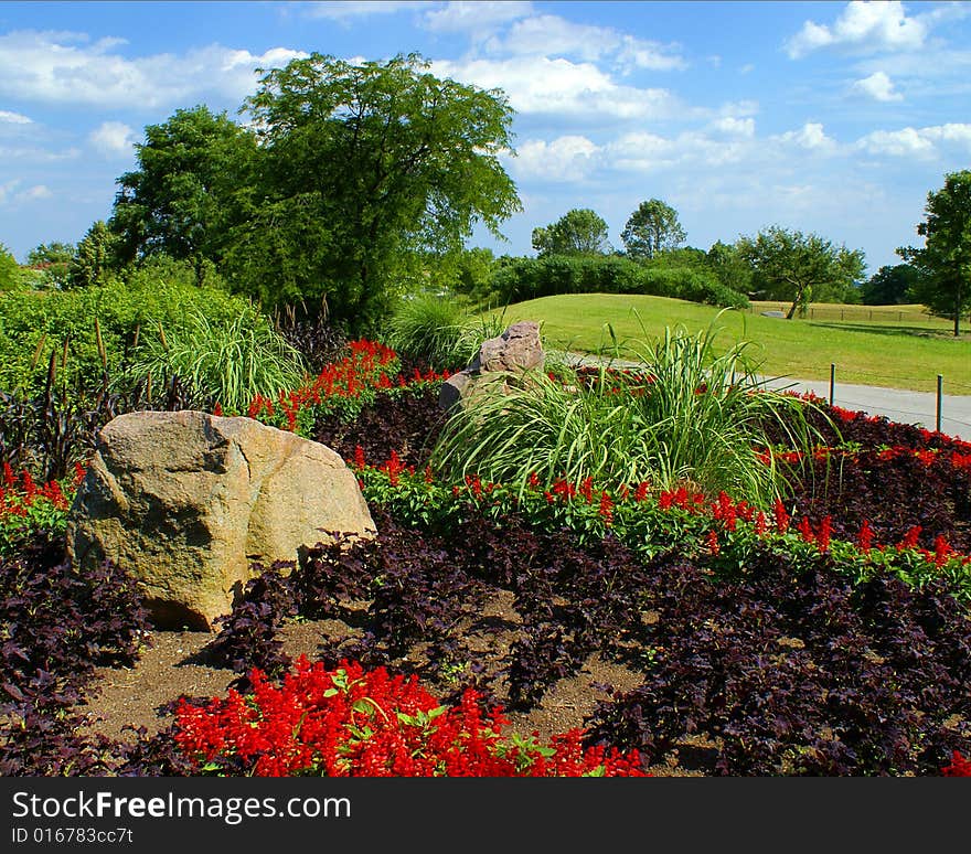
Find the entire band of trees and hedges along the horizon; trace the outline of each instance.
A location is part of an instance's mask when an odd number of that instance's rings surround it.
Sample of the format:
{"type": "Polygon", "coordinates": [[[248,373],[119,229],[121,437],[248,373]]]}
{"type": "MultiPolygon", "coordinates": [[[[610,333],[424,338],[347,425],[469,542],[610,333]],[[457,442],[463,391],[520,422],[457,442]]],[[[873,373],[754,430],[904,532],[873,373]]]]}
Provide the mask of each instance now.
{"type": "Polygon", "coordinates": [[[641,202],[615,248],[604,218],[574,209],[532,233],[535,257],[468,248],[478,224],[497,236],[521,202],[500,156],[513,111],[497,89],[428,72],[417,55],[354,65],[312,54],[259,71],[241,107],[205,106],[145,128],[136,168],[118,179],[111,215],[76,246],[42,244],[21,267],[0,246],[0,290],[78,288],[164,256],[199,285],[225,282],[264,309],[323,314],[374,330],[395,299],[450,289],[513,301],[599,290],[713,305],[916,301],[971,310],[971,171],[928,193],[920,248],[864,277],[860,249],[769,225],[707,250],[686,246],[677,212],[641,202]]]}

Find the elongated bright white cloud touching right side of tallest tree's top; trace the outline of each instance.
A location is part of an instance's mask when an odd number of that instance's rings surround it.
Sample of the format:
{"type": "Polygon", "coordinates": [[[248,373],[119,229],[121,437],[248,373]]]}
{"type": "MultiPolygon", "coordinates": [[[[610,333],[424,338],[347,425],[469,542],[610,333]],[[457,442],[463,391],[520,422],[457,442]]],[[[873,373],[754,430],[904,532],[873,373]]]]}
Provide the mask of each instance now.
{"type": "Polygon", "coordinates": [[[591,63],[514,56],[506,60],[435,61],[433,73],[482,88],[501,88],[516,113],[647,119],[673,116],[676,99],[665,89],[615,83],[591,63]]]}

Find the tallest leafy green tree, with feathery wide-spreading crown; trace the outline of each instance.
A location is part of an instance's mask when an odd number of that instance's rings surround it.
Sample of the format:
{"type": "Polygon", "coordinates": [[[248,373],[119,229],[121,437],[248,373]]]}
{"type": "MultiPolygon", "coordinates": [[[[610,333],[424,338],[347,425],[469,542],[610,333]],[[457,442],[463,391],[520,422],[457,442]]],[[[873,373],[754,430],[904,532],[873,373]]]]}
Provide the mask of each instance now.
{"type": "Polygon", "coordinates": [[[245,107],[258,192],[231,229],[227,271],[266,303],[320,301],[376,322],[416,254],[459,250],[520,210],[500,163],[512,109],[428,73],[417,55],[353,65],[318,53],[264,73],[245,107]]]}

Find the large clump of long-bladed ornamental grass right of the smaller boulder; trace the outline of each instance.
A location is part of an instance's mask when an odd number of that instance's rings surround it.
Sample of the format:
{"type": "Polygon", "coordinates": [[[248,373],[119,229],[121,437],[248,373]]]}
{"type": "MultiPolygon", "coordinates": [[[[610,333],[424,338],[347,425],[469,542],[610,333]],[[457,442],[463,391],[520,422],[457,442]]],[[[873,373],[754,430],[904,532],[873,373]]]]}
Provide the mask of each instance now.
{"type": "Polygon", "coordinates": [[[768,423],[810,450],[813,431],[801,401],[758,387],[741,343],[713,350],[714,332],[665,331],[626,344],[649,375],[599,369],[590,382],[534,372],[508,393],[483,393],[446,425],[431,465],[451,479],[479,476],[523,487],[535,473],[548,489],[559,478],[598,483],[690,484],[768,503],[787,490],[785,473],[759,456],[768,423]],[[794,425],[794,427],[793,427],[794,425]]]}

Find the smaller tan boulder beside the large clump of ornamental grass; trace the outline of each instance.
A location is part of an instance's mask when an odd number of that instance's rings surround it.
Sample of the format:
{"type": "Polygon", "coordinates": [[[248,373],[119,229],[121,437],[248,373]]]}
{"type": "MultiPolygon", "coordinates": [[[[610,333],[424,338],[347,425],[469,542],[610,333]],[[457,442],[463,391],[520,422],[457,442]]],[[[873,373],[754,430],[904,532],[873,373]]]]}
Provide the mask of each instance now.
{"type": "Polygon", "coordinates": [[[441,384],[439,408],[447,410],[467,401],[477,387],[495,387],[498,382],[504,388],[510,374],[541,369],[543,360],[540,324],[534,320],[513,323],[501,335],[483,341],[469,365],[441,384]]]}

